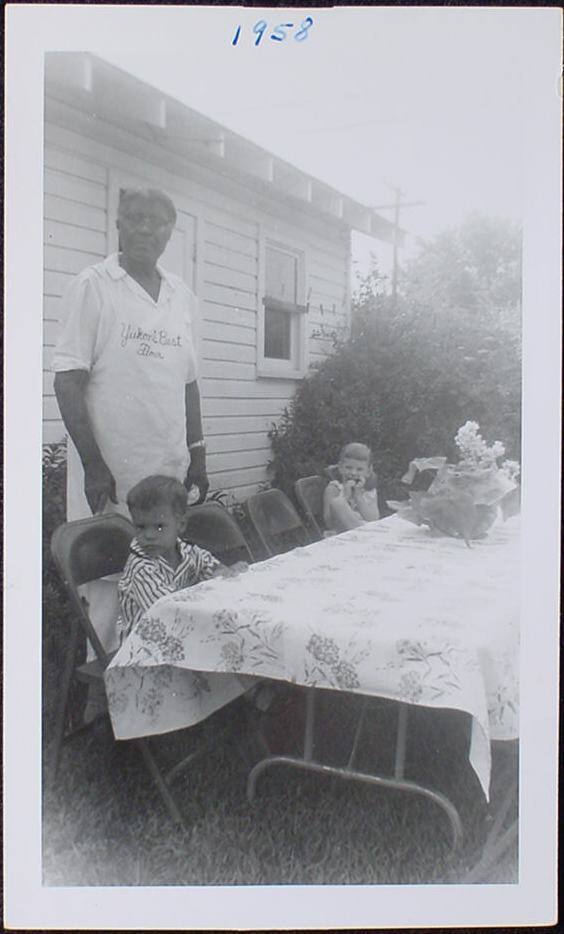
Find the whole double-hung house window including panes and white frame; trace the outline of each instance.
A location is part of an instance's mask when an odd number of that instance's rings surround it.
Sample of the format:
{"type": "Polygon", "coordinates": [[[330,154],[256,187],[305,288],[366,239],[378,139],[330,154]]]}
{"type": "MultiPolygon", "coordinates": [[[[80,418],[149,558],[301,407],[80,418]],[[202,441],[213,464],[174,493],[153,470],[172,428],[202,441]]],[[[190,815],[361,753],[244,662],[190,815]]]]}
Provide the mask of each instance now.
{"type": "Polygon", "coordinates": [[[305,372],[303,253],[264,246],[264,298],[260,312],[258,373],[297,378],[305,372]]]}

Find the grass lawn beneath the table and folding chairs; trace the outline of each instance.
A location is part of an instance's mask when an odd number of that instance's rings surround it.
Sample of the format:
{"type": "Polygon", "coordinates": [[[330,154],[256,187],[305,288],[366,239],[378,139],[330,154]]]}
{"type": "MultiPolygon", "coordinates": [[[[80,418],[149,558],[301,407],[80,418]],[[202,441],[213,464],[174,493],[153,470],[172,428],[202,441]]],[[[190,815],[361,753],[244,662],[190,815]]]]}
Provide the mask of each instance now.
{"type": "MultiPolygon", "coordinates": [[[[227,736],[174,783],[186,830],[171,822],[140,754],[113,740],[106,718],[65,744],[56,783],[48,778],[47,743],[44,884],[455,883],[475,862],[491,819],[468,763],[466,715],[420,708],[409,724],[406,775],[445,792],[464,824],[463,848],[452,856],[446,816],[405,792],[275,767],[259,779],[249,804],[246,777],[258,753],[242,726],[246,704],[236,701],[203,727],[225,727],[227,736]]],[[[316,749],[335,764],[348,757],[358,705],[351,695],[321,696],[316,749]]],[[[395,718],[393,704],[370,702],[360,768],[370,763],[391,773],[395,718]]],[[[265,723],[273,749],[299,749],[302,723],[303,693],[284,690],[265,723]]],[[[155,749],[193,743],[199,732],[163,737],[155,749]]],[[[504,791],[494,769],[494,806],[504,791]]],[[[516,882],[517,852],[487,881],[516,882]]]]}

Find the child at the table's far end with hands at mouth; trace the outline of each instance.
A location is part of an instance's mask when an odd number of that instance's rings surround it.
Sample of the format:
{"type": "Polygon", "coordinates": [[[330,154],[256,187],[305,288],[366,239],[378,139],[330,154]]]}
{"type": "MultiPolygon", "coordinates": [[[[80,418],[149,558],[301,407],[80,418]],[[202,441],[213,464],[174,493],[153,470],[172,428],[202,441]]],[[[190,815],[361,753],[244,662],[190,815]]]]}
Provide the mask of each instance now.
{"type": "Polygon", "coordinates": [[[372,453],[366,444],[346,444],[323,495],[328,532],[346,532],[380,518],[372,453]]]}

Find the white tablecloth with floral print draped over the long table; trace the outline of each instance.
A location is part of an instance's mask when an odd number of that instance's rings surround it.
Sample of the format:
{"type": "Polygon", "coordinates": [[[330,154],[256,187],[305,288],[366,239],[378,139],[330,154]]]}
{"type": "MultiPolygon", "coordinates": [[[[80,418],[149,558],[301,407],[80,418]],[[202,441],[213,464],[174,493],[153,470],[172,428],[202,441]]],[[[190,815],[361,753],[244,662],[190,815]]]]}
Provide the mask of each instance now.
{"type": "Polygon", "coordinates": [[[488,795],[490,739],[518,735],[519,520],[468,548],[397,516],[159,600],[106,672],[118,739],[190,726],[241,675],[471,714],[488,795]]]}

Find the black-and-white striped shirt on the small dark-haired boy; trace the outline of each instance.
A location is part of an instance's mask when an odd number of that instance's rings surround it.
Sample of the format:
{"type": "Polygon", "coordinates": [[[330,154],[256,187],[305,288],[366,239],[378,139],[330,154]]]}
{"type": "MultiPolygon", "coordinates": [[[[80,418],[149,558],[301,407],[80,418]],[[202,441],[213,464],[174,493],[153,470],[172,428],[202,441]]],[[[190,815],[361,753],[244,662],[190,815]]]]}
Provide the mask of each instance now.
{"type": "Polygon", "coordinates": [[[217,558],[198,545],[177,541],[180,564],[172,568],[164,558],[150,557],[134,538],[129,558],[118,584],[120,618],[118,626],[123,636],[131,632],[141,616],[160,597],[209,580],[220,566],[217,558]]]}

